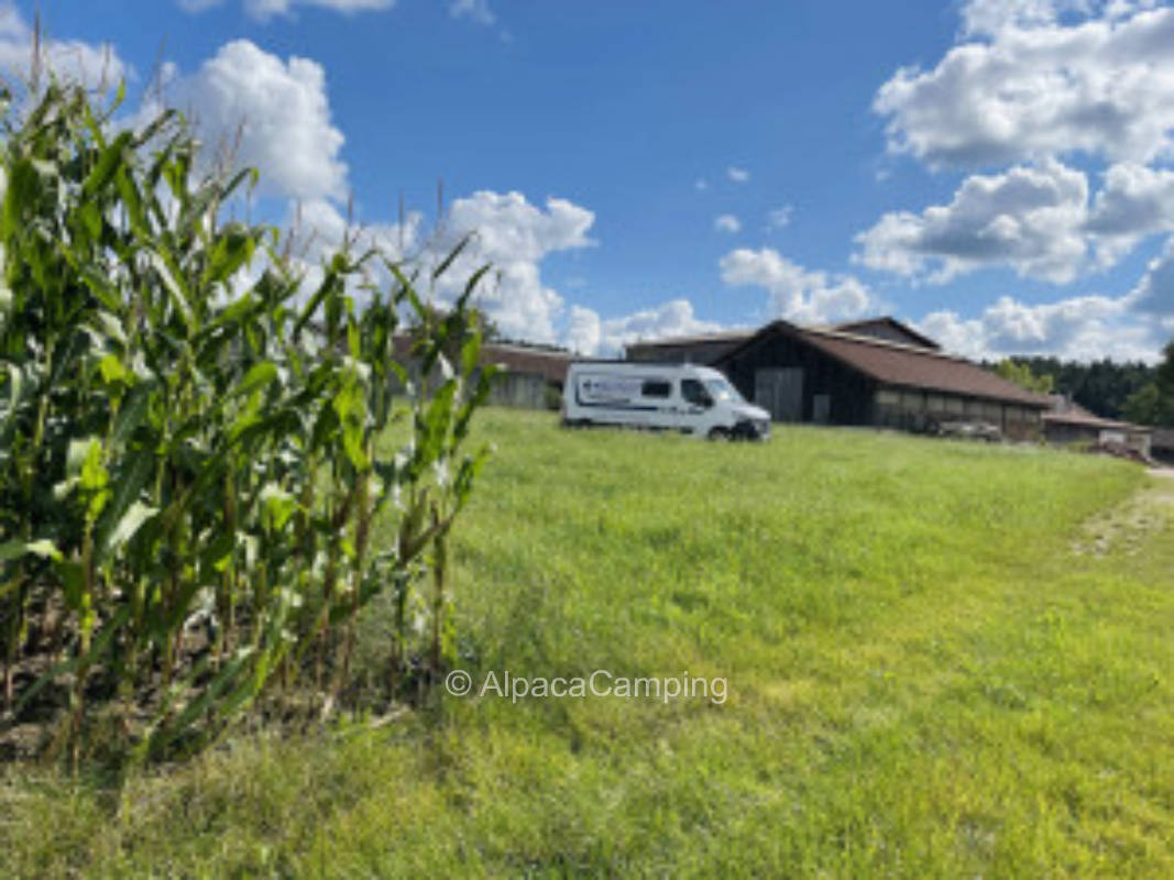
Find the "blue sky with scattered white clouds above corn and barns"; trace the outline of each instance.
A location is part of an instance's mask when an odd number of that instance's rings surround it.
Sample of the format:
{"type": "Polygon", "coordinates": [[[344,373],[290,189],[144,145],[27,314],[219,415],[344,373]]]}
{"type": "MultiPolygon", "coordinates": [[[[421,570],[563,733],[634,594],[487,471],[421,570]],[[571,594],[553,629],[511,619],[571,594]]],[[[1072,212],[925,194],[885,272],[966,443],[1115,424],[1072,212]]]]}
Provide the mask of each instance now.
{"type": "MultiPolygon", "coordinates": [[[[1174,338],[1158,0],[41,0],[121,124],[183,110],[312,264],[474,244],[514,339],[892,314],[976,358],[1174,338]],[[402,204],[405,207],[402,209],[402,204]]],[[[27,70],[32,2],[0,2],[27,70]]],[[[209,158],[211,161],[211,158],[209,158]]]]}

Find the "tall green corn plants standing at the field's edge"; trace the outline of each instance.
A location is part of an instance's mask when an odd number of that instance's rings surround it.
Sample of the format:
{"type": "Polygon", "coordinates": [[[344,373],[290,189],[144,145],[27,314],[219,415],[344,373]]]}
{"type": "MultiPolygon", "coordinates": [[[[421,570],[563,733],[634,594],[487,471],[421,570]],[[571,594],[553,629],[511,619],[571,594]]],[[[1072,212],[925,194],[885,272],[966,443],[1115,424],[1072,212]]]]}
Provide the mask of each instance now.
{"type": "Polygon", "coordinates": [[[202,172],[178,116],[117,130],[115,106],[52,83],[0,157],[4,699],[9,720],[58,700],[74,760],[95,704],[147,718],[149,754],[261,696],[329,712],[384,593],[389,692],[410,663],[438,671],[446,540],[486,455],[465,451],[491,375],[468,320],[486,268],[439,318],[418,292],[464,244],[429,275],[344,245],[308,293],[276,230],[220,219],[255,172],[202,172]],[[379,265],[383,291],[364,282],[379,265]]]}

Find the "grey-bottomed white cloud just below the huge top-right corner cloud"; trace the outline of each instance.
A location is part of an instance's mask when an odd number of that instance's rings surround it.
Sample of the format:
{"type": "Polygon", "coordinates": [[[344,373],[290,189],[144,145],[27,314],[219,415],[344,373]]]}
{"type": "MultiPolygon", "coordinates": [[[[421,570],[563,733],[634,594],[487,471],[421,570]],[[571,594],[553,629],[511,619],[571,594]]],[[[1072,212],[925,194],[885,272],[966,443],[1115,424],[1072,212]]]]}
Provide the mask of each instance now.
{"type": "Polygon", "coordinates": [[[856,237],[856,259],[870,269],[935,280],[983,266],[1065,283],[1085,259],[1088,182],[1054,160],[973,175],[947,205],[884,215],[856,237]]]}

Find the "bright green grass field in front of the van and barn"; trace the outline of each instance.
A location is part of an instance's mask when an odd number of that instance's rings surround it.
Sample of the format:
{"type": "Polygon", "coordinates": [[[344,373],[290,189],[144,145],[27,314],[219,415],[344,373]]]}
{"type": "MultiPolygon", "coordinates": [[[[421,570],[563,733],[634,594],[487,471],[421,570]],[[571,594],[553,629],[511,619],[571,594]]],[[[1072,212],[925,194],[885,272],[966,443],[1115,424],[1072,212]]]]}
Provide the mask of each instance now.
{"type": "Polygon", "coordinates": [[[445,697],[121,787],[9,766],[0,874],[1174,876],[1174,481],[863,431],[479,431],[474,688],[688,672],[724,703],[445,697]]]}

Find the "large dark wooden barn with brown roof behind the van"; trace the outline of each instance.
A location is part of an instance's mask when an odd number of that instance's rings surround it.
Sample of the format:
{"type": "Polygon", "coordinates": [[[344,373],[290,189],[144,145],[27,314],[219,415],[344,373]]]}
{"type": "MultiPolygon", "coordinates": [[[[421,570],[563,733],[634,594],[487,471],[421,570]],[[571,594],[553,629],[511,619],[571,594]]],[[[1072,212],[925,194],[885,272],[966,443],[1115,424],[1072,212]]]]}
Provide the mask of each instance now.
{"type": "Polygon", "coordinates": [[[639,343],[627,357],[717,367],[776,421],[905,431],[983,422],[1012,439],[1034,439],[1051,405],[1047,397],[942,353],[892,318],[836,327],[776,320],[754,332],[639,343]]]}

